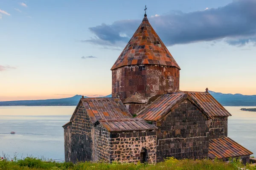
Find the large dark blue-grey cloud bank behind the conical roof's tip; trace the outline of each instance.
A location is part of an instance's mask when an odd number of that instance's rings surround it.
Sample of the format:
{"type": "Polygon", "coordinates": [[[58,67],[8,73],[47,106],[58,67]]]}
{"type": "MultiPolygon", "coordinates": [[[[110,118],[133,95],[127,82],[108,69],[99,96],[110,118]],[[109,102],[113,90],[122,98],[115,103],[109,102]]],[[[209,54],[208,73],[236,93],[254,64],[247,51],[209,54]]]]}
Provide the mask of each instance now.
{"type": "MultiPolygon", "coordinates": [[[[220,8],[183,13],[172,11],[150,17],[149,22],[166,45],[225,40],[230,45],[256,43],[256,0],[235,0],[220,8]]],[[[119,20],[90,27],[89,40],[97,45],[124,46],[141,20],[119,20]],[[121,35],[126,35],[122,37],[121,35]]]]}

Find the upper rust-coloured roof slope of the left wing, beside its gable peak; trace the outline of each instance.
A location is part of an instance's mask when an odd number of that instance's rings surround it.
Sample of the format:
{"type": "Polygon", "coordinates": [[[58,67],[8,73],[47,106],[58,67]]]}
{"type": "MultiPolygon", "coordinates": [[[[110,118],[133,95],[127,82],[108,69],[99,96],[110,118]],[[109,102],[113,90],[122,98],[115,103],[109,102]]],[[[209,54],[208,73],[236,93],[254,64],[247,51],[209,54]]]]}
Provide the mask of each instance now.
{"type": "Polygon", "coordinates": [[[82,98],[81,102],[93,123],[99,119],[132,117],[119,98],[82,98]]]}

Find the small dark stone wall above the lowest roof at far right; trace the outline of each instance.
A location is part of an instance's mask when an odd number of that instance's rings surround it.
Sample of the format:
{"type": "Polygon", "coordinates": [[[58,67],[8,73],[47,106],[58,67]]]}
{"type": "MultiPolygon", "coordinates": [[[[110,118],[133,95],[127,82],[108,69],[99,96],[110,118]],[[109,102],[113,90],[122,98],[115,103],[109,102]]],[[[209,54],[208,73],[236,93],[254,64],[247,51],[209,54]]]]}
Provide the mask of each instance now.
{"type": "Polygon", "coordinates": [[[214,117],[209,120],[209,139],[227,137],[227,118],[214,117]]]}

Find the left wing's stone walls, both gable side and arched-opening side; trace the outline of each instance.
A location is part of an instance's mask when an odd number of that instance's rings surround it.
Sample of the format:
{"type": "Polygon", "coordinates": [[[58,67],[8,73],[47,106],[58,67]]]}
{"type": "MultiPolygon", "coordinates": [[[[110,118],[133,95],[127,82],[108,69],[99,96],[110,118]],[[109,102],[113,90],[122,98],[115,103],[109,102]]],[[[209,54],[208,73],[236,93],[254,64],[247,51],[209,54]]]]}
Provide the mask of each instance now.
{"type": "Polygon", "coordinates": [[[79,105],[72,124],[64,127],[65,161],[140,161],[140,151],[148,152],[148,162],[156,162],[156,131],[110,133],[94,125],[79,105]]]}

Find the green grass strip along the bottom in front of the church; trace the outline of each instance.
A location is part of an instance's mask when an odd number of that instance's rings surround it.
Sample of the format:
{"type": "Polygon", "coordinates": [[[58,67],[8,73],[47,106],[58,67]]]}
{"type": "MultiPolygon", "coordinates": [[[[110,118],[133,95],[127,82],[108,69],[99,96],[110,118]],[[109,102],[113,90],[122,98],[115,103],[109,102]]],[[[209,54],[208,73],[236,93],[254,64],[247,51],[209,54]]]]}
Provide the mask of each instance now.
{"type": "Polygon", "coordinates": [[[246,168],[256,170],[256,167],[247,164],[244,167],[239,161],[231,160],[226,163],[219,160],[177,160],[168,158],[157,164],[120,164],[79,162],[51,162],[41,159],[26,157],[19,160],[0,159],[0,170],[239,170],[246,168]]]}

